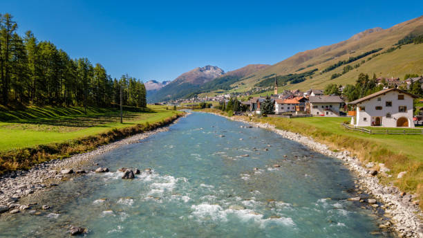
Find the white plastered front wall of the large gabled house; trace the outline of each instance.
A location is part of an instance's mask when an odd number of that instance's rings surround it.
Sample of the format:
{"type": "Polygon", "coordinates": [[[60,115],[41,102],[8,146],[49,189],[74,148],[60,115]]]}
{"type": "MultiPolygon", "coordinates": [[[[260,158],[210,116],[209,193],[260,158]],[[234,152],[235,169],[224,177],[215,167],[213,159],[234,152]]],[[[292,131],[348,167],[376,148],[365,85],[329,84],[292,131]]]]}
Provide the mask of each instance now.
{"type": "Polygon", "coordinates": [[[370,127],[375,117],[382,118],[382,127],[397,127],[397,119],[401,117],[408,118],[408,127],[414,127],[413,122],[413,98],[409,95],[404,95],[404,100],[398,100],[397,91],[391,91],[385,95],[371,98],[357,104],[357,118],[355,126],[370,127]],[[380,101],[377,100],[380,98],[380,101]],[[392,102],[392,107],[386,107],[386,101],[392,102]],[[398,107],[406,106],[406,112],[399,112],[398,107]],[[359,111],[359,107],[365,107],[365,111],[359,111]],[[382,107],[382,110],[376,110],[376,107],[382,107]],[[391,113],[391,118],[386,118],[386,114],[391,113]],[[366,118],[366,121],[364,120],[366,118]]]}

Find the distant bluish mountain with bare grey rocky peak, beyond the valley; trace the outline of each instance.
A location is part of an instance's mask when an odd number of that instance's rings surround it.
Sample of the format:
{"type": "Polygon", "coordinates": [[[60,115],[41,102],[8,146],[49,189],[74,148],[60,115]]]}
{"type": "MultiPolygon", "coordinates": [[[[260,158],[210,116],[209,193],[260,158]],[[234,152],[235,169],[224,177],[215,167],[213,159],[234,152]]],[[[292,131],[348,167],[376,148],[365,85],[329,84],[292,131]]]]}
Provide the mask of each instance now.
{"type": "Polygon", "coordinates": [[[154,93],[147,93],[147,101],[159,102],[182,98],[199,89],[200,85],[214,80],[224,73],[223,69],[217,66],[207,65],[194,68],[187,73],[182,73],[182,75],[176,77],[175,80],[169,82],[166,86],[162,87],[162,89],[154,93]]]}

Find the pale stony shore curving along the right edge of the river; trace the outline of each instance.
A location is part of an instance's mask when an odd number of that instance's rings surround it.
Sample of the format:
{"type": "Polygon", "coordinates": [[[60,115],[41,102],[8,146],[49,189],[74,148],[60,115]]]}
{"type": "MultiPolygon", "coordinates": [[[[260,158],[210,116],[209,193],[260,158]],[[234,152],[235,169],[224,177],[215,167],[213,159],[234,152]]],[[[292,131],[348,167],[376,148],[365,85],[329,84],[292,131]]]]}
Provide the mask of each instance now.
{"type": "MultiPolygon", "coordinates": [[[[214,114],[222,116],[217,113],[214,114]]],[[[419,218],[423,217],[423,214],[418,206],[418,201],[413,201],[413,199],[415,199],[415,195],[401,192],[395,186],[382,185],[379,183],[379,178],[376,176],[378,173],[380,176],[389,176],[386,174],[389,169],[386,168],[384,164],[379,163],[379,170],[372,170],[370,168],[374,167],[373,163],[364,165],[357,157],[352,156],[350,152],[346,150],[334,152],[327,145],[318,143],[308,136],[302,136],[290,131],[276,129],[274,125],[267,123],[249,122],[241,118],[234,117],[226,118],[229,120],[245,122],[253,127],[269,129],[274,131],[276,134],[283,136],[283,138],[297,141],[316,152],[344,161],[344,165],[346,165],[350,171],[354,172],[357,176],[357,181],[355,181],[357,184],[357,190],[364,191],[373,197],[366,199],[359,196],[348,200],[353,202],[367,201],[367,203],[372,204],[373,208],[381,208],[384,212],[384,217],[390,219],[390,221],[379,226],[382,230],[392,227],[395,232],[397,232],[398,237],[423,237],[423,223],[419,218]]]]}

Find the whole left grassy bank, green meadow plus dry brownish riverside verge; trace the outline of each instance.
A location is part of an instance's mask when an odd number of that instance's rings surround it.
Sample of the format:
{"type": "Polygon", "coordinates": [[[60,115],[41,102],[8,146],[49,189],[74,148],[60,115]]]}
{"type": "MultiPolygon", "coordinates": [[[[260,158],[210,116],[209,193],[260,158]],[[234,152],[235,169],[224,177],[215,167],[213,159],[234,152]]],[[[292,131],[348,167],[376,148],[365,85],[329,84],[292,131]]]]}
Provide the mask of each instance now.
{"type": "Polygon", "coordinates": [[[0,173],[25,170],[36,163],[87,152],[167,125],[182,114],[157,106],[143,111],[124,111],[124,123],[120,124],[117,110],[89,109],[85,114],[80,113],[80,108],[74,109],[29,110],[43,111],[44,117],[27,116],[32,114],[28,111],[8,112],[14,118],[0,122],[0,173]],[[54,111],[61,111],[61,114],[54,114],[54,111]]]}

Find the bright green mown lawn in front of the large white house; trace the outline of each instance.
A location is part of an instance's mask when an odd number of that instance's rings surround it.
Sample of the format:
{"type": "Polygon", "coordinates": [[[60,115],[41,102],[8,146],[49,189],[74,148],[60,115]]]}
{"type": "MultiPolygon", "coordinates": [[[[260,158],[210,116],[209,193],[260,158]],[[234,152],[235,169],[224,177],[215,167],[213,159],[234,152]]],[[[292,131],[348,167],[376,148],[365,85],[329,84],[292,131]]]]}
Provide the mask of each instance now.
{"type": "MultiPolygon", "coordinates": [[[[423,161],[423,136],[420,135],[370,135],[359,131],[352,131],[341,126],[342,122],[347,120],[349,121],[350,118],[312,117],[292,118],[290,120],[312,125],[336,134],[352,136],[355,138],[365,138],[379,143],[380,145],[384,145],[386,149],[393,152],[398,152],[408,156],[409,158],[415,158],[416,160],[423,161]]],[[[372,127],[372,129],[375,129],[375,127],[372,127]]]]}

